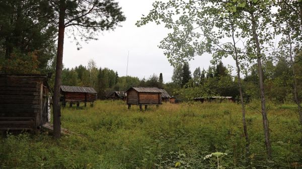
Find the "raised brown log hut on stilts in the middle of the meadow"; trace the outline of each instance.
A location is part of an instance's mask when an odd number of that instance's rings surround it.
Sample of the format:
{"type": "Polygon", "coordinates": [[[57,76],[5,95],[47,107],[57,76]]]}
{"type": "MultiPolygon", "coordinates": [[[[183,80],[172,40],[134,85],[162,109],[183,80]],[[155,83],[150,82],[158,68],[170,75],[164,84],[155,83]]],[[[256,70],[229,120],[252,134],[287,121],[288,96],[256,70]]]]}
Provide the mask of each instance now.
{"type": "Polygon", "coordinates": [[[128,108],[131,105],[139,105],[142,110],[142,105],[147,109],[147,105],[162,104],[162,91],[157,87],[130,87],[126,90],[128,108]]]}

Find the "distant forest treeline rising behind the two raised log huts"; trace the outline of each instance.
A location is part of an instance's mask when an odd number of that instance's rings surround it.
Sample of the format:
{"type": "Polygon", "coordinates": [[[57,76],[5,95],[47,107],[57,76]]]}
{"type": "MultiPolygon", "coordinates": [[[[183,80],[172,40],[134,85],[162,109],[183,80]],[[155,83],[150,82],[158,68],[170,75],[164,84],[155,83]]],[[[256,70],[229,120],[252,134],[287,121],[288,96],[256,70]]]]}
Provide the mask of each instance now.
{"type": "Polygon", "coordinates": [[[153,74],[148,79],[132,76],[119,77],[118,72],[109,68],[97,68],[96,62],[90,60],[88,66],[63,68],[62,85],[87,86],[97,90],[100,99],[104,99],[110,91],[125,91],[130,86],[164,87],[163,74],[153,74]]]}

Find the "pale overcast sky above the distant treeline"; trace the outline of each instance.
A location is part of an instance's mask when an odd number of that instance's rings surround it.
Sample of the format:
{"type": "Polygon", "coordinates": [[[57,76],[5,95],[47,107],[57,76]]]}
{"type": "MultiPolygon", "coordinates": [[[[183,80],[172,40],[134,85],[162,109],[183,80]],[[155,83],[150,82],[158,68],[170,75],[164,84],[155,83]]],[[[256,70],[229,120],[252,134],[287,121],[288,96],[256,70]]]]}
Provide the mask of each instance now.
{"type": "MultiPolygon", "coordinates": [[[[98,40],[82,42],[82,49],[66,36],[64,42],[63,64],[65,68],[73,68],[80,64],[87,66],[88,61],[93,59],[98,68],[107,67],[117,71],[119,76],[126,75],[127,55],[129,51],[128,75],[146,79],[154,73],[159,76],[163,73],[165,82],[171,81],[173,66],[158,48],[169,30],[163,26],[149,23],[137,28],[135,23],[142,14],[147,15],[152,10],[155,0],[119,0],[119,5],[126,16],[126,21],[121,23],[122,27],[114,31],[100,34],[98,40]]],[[[190,63],[191,72],[198,66],[207,69],[210,65],[211,56],[204,55],[196,57],[190,63]]],[[[224,59],[224,65],[234,65],[232,59],[224,59]]]]}

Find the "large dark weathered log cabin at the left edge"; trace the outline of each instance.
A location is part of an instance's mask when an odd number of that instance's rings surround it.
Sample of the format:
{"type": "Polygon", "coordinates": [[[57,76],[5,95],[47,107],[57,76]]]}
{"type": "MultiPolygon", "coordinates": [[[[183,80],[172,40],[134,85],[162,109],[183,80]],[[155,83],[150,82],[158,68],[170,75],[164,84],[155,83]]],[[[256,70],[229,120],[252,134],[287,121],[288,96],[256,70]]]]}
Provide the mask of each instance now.
{"type": "Polygon", "coordinates": [[[0,130],[38,132],[50,119],[47,76],[0,74],[0,130]]]}

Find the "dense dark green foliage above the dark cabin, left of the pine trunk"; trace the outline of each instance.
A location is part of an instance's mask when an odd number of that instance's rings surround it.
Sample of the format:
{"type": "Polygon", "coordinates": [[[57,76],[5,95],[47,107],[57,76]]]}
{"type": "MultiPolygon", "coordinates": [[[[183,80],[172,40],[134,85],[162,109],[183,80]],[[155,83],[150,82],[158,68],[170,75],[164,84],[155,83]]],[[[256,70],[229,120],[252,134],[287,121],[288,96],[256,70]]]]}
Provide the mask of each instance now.
{"type": "MultiPolygon", "coordinates": [[[[48,62],[55,55],[56,29],[50,9],[48,1],[1,1],[0,58],[13,60],[14,55],[16,60],[24,60],[24,55],[35,53],[38,67],[33,63],[33,71],[45,73],[48,62]]],[[[29,63],[24,67],[25,72],[29,72],[27,65],[29,63]]],[[[16,72],[10,73],[20,73],[23,69],[22,64],[5,66],[17,66],[11,68],[16,72]]]]}

